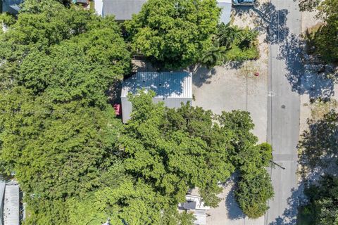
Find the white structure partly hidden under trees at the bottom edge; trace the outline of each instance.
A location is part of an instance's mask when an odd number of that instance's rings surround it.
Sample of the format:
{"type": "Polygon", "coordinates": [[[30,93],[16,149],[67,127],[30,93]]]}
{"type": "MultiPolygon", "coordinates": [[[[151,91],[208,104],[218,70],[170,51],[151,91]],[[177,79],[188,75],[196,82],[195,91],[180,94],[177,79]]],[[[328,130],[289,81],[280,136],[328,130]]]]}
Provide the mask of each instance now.
{"type": "Polygon", "coordinates": [[[199,195],[185,195],[185,203],[178,205],[179,212],[185,211],[194,214],[196,225],[206,225],[206,210],[210,207],[204,205],[203,200],[199,195]]]}

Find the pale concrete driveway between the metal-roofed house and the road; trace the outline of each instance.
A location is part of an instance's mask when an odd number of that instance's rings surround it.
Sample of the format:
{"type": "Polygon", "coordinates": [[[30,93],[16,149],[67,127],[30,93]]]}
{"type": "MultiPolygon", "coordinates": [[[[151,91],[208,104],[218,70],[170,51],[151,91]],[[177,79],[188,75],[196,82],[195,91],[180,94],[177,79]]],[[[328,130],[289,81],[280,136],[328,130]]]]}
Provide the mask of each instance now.
{"type": "Polygon", "coordinates": [[[212,70],[199,68],[192,77],[195,101],[204,109],[222,111],[247,110],[255,128],[253,134],[266,141],[268,120],[268,64],[264,58],[241,65],[224,65],[212,70]],[[259,72],[258,77],[254,72],[259,72]]]}

